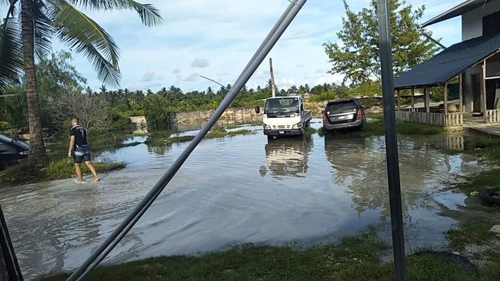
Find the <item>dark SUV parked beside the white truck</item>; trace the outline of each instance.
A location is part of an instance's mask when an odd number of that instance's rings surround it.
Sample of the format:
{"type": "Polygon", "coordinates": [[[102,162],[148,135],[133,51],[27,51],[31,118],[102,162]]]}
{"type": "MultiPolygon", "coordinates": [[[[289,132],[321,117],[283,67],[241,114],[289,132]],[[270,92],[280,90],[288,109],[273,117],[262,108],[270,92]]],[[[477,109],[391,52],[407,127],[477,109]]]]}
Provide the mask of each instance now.
{"type": "Polygon", "coordinates": [[[356,99],[339,99],[326,104],[323,114],[325,130],[361,129],[365,124],[365,112],[356,99]]]}

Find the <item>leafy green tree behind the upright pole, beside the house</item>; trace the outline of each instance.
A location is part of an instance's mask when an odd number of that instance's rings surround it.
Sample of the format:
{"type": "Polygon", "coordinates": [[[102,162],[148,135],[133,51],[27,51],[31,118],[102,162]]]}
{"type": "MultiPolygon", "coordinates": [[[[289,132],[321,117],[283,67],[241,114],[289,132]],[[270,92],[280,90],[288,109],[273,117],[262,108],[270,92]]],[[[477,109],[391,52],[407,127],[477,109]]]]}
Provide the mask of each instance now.
{"type": "MultiPolygon", "coordinates": [[[[342,18],[342,30],[337,33],[337,42],[324,44],[326,54],[332,62],[331,73],[344,74],[344,81],[353,85],[376,81],[381,78],[378,53],[377,2],[360,12],[353,12],[344,1],[346,17],[342,18]],[[340,41],[340,42],[339,42],[340,41]]],[[[430,31],[419,26],[425,6],[413,8],[403,0],[390,1],[392,25],[392,53],[394,76],[401,76],[408,69],[428,60],[439,48],[431,40],[422,36],[422,31],[430,31]]]]}

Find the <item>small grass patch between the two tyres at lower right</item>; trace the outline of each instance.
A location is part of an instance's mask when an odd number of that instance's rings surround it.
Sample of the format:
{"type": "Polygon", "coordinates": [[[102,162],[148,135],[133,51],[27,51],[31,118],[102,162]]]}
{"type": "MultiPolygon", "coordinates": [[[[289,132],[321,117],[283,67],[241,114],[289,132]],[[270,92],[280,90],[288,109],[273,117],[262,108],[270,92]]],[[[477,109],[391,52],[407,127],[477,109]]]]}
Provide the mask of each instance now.
{"type": "Polygon", "coordinates": [[[458,230],[447,232],[450,246],[454,250],[464,250],[466,246],[482,246],[499,240],[497,234],[491,232],[493,223],[467,223],[462,224],[458,230]]]}

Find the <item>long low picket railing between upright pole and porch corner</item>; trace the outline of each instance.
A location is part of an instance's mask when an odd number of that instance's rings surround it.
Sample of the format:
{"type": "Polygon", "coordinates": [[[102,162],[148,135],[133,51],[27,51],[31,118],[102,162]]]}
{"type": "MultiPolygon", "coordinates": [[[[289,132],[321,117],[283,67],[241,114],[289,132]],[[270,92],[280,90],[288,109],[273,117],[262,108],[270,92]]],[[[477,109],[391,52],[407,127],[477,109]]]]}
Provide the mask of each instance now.
{"type": "Polygon", "coordinates": [[[431,124],[441,127],[455,127],[463,125],[463,115],[461,113],[428,113],[428,112],[409,112],[397,111],[396,119],[420,124],[431,124]]]}

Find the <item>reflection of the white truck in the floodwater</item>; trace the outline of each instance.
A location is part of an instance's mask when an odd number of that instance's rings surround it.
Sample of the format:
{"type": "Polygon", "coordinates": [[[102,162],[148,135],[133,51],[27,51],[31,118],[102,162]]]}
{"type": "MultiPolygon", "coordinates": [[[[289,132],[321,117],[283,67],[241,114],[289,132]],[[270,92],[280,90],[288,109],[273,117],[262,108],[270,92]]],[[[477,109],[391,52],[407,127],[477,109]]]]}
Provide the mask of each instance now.
{"type": "Polygon", "coordinates": [[[265,145],[267,167],[260,167],[260,176],[303,177],[308,172],[308,153],[313,148],[310,137],[272,139],[265,145]]]}

